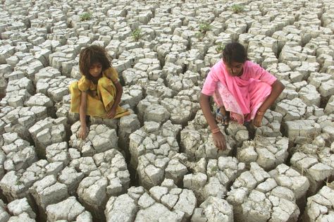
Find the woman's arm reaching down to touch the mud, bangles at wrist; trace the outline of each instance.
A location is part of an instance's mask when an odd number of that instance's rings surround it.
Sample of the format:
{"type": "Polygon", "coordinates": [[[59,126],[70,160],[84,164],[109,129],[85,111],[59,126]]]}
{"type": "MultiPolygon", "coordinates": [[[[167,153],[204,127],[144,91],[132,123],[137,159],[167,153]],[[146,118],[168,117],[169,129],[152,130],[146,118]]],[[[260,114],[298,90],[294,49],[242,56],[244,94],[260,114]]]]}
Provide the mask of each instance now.
{"type": "MultiPolygon", "coordinates": [[[[204,117],[206,118],[206,122],[209,124],[211,130],[215,130],[218,128],[216,120],[211,113],[210,104],[209,104],[209,96],[206,94],[202,94],[199,96],[199,105],[203,111],[204,117]]],[[[213,132],[214,142],[218,149],[226,149],[226,142],[223,133],[219,130],[218,132],[213,132]]]]}

